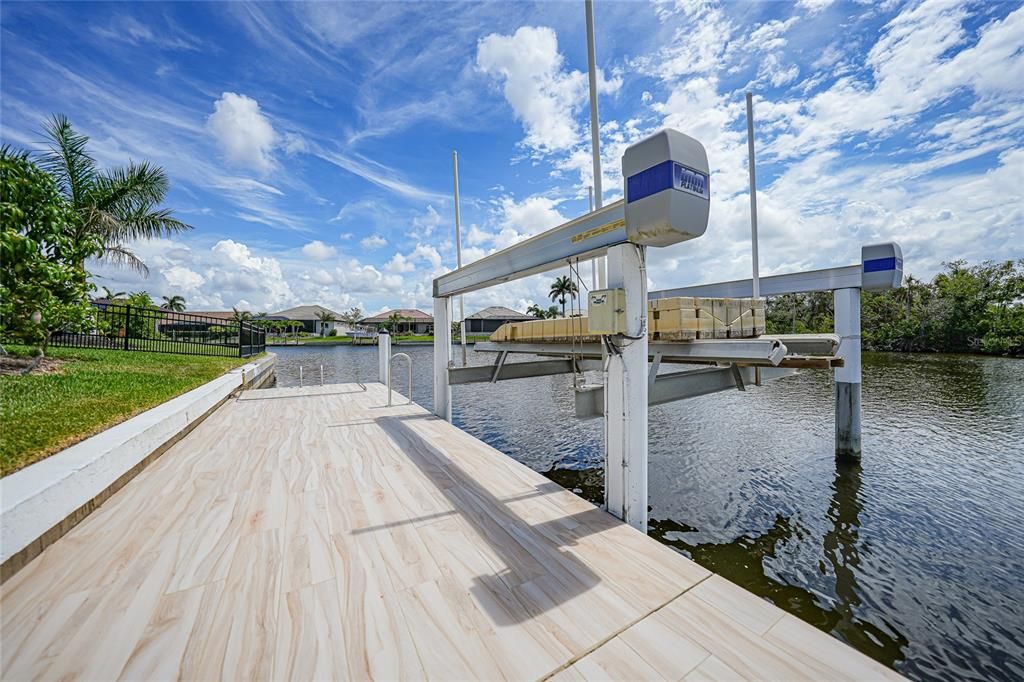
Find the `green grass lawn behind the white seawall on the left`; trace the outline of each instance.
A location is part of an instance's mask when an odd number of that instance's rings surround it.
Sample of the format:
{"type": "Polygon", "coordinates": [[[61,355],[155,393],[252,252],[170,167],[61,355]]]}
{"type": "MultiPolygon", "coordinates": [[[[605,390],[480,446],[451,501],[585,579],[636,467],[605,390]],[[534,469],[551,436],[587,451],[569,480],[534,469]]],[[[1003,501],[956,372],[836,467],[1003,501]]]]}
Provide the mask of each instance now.
{"type": "Polygon", "coordinates": [[[51,348],[49,355],[67,360],[53,374],[0,376],[0,475],[252,359],[79,348],[51,348]]]}

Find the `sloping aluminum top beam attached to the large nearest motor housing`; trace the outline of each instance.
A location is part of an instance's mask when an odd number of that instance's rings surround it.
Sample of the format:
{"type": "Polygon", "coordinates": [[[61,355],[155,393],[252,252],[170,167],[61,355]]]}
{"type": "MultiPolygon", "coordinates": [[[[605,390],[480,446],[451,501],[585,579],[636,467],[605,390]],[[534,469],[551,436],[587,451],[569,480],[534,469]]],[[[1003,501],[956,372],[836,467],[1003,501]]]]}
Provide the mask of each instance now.
{"type": "Polygon", "coordinates": [[[434,280],[434,298],[486,289],[505,282],[561,267],[568,260],[588,260],[626,244],[626,204],[620,200],[514,248],[504,249],[434,280]]]}

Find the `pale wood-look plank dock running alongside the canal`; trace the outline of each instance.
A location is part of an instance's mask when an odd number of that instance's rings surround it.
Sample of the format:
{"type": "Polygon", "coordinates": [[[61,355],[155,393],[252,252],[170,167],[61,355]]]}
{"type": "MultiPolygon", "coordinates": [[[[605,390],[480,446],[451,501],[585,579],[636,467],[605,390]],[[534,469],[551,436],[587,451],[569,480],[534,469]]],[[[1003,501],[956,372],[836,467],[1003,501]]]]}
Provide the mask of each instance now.
{"type": "Polygon", "coordinates": [[[3,679],[898,679],[386,402],[222,406],[2,586],[3,679]]]}

